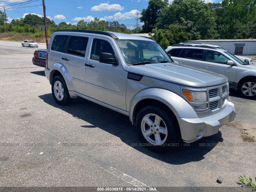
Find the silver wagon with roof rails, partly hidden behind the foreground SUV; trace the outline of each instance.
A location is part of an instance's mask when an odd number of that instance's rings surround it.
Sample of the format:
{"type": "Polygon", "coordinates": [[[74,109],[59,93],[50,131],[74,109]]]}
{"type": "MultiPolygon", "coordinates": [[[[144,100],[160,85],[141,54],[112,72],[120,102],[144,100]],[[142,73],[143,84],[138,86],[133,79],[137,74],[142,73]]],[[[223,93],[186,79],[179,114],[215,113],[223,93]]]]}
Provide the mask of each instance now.
{"type": "Polygon", "coordinates": [[[174,44],[166,52],[180,65],[226,76],[229,87],[242,97],[256,98],[256,66],[242,62],[230,52],[202,44],[174,44]]]}

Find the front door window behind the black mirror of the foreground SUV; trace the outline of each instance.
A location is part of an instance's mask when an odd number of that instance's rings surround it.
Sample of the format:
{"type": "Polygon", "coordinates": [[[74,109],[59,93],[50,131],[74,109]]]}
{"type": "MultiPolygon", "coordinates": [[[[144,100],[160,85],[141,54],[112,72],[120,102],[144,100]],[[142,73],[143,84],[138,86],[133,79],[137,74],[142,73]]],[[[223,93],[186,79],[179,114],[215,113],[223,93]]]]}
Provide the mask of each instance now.
{"type": "Polygon", "coordinates": [[[98,61],[100,53],[111,53],[114,56],[114,51],[109,42],[100,39],[94,39],[92,42],[91,59],[98,61]]]}

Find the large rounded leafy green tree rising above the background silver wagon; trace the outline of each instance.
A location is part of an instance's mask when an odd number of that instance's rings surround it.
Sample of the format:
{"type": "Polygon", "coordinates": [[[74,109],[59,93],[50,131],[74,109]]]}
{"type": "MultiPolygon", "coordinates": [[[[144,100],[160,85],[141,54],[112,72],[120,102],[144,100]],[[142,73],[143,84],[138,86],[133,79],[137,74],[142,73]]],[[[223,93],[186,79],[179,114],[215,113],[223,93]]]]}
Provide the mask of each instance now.
{"type": "Polygon", "coordinates": [[[157,26],[162,29],[172,25],[182,27],[183,32],[191,34],[192,40],[217,38],[214,13],[202,0],[174,0],[160,13],[157,26]]]}

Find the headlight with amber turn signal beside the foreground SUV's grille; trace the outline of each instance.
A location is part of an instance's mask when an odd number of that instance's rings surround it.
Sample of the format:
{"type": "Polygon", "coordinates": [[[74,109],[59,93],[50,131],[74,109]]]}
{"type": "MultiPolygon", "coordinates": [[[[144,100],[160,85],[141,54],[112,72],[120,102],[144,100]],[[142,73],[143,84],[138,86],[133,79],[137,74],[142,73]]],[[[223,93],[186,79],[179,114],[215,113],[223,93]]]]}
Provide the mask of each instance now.
{"type": "Polygon", "coordinates": [[[199,104],[207,102],[208,99],[206,91],[198,92],[183,90],[183,95],[192,103],[195,109],[206,109],[208,107],[207,104],[199,104]]]}

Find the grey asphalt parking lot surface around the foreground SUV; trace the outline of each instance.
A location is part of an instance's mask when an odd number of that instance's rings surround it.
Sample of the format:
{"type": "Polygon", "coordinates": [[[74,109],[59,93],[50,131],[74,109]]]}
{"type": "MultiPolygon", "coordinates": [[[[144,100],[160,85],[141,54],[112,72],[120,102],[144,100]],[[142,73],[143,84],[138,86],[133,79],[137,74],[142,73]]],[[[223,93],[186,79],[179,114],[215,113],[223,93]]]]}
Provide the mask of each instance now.
{"type": "Polygon", "coordinates": [[[157,154],[138,146],[127,116],[82,98],[56,104],[32,64],[41,48],[0,41],[0,186],[238,187],[256,176],[256,100],[231,91],[234,122],[157,154]]]}

